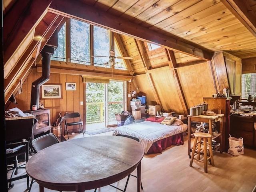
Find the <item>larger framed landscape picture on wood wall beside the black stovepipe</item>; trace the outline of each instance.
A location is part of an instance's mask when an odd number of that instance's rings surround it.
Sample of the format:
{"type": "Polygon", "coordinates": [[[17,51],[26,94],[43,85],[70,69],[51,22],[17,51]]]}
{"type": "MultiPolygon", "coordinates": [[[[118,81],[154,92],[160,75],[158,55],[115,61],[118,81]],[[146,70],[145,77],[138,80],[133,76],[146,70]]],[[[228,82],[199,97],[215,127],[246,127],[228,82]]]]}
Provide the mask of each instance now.
{"type": "Polygon", "coordinates": [[[43,84],[41,86],[41,99],[62,99],[62,84],[43,84]]]}

